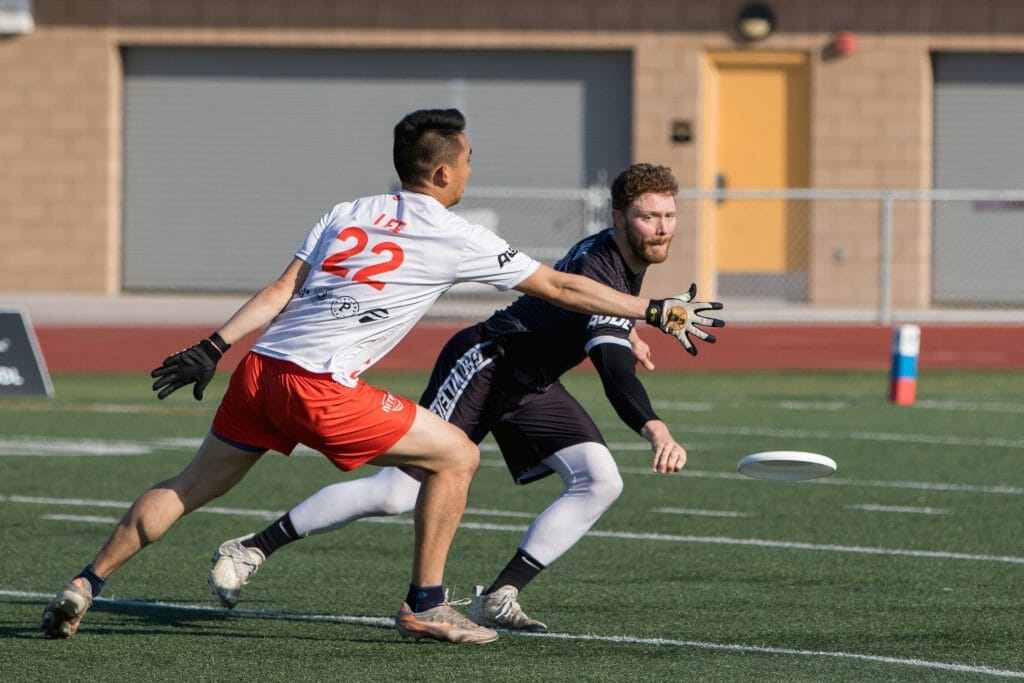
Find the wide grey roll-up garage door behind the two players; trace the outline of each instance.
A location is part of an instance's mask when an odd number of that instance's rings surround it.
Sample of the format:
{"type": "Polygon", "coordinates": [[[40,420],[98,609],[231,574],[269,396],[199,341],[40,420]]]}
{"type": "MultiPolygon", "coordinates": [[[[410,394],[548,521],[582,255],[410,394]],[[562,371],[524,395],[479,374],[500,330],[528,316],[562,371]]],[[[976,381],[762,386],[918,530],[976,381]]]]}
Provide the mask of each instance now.
{"type": "MultiPolygon", "coordinates": [[[[128,48],[123,57],[126,290],[262,286],[331,206],[396,186],[391,130],[416,109],[467,115],[476,187],[579,188],[631,160],[629,52],[128,48]]],[[[581,230],[579,211],[544,203],[467,208],[519,247],[571,244],[581,230]]]]}

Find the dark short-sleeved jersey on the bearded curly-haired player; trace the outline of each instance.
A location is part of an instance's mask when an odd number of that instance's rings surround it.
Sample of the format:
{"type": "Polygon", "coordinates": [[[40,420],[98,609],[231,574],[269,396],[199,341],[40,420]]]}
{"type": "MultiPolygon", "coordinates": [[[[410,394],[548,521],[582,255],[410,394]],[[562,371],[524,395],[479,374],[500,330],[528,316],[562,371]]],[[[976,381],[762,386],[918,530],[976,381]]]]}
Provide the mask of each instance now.
{"type": "MultiPolygon", "coordinates": [[[[643,284],[643,272],[630,270],[611,236],[609,227],[581,240],[555,268],[636,296],[643,284]]],[[[540,389],[580,365],[596,344],[630,348],[633,321],[578,313],[523,295],[509,307],[495,312],[481,328],[484,338],[503,347],[515,379],[526,387],[540,389]]]]}

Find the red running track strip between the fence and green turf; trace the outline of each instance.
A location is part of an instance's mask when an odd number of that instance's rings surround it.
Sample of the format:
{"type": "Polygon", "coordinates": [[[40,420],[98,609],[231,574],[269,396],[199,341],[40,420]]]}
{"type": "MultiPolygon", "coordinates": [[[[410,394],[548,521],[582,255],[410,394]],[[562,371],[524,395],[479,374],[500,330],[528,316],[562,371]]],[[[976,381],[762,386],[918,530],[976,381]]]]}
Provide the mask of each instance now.
{"type": "MultiPolygon", "coordinates": [[[[429,370],[462,324],[421,323],[379,370],[429,370]]],[[[1024,368],[1024,326],[921,326],[922,369],[1024,368]]],[[[40,327],[36,329],[51,372],[148,371],[208,334],[208,328],[40,327]]],[[[877,325],[741,325],[716,330],[715,345],[699,344],[690,357],[679,343],[645,329],[660,370],[888,370],[892,329],[877,325]]],[[[236,344],[221,361],[233,368],[255,335],[236,344]]]]}

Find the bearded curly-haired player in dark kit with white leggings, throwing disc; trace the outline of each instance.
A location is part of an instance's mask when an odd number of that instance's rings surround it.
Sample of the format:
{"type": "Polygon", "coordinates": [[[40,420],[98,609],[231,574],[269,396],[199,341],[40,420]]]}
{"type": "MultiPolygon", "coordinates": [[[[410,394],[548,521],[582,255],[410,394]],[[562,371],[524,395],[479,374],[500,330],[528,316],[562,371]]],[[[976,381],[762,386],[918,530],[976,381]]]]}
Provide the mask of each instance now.
{"type": "MultiPolygon", "coordinates": [[[[555,267],[637,294],[647,266],[668,257],[677,190],[669,169],[631,166],[611,185],[612,227],[578,243],[555,267]]],[[[685,298],[694,294],[691,289],[685,298]]],[[[721,307],[717,302],[686,303],[677,310],[674,325],[691,353],[696,348],[687,335],[715,341],[692,324],[721,327],[722,321],[700,314],[721,307]]],[[[470,605],[477,624],[546,631],[523,612],[519,593],[571,548],[622,490],[600,430],[562,386],[562,374],[590,357],[620,418],[650,442],[653,470],[671,473],[683,467],[686,452],[654,413],[636,376],[635,355],[652,368],[648,351],[632,319],[572,312],[529,295],[459,332],[442,349],[420,404],[475,443],[492,433],[516,483],[552,473],[564,483],[526,529],[511,561],[485,590],[477,591],[470,605]]],[[[424,475],[416,469],[386,468],[321,489],[259,533],[222,544],[210,572],[214,593],[233,606],[242,587],[278,548],[362,517],[409,512],[422,481],[424,475]]]]}

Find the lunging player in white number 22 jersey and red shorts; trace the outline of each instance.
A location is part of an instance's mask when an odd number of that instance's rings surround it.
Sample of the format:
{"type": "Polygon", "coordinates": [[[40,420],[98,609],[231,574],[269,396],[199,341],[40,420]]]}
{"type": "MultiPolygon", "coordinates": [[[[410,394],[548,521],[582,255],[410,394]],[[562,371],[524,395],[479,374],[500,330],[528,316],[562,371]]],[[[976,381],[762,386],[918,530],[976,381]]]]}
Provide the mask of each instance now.
{"type": "Polygon", "coordinates": [[[213,426],[179,474],[143,493],[98,554],[50,601],[43,632],[70,638],[103,584],[182,515],[230,490],[268,450],[304,443],[342,470],[366,463],[422,476],[414,494],[412,581],[395,625],[402,635],[485,643],[498,634],[445,602],[444,562],[479,452],[427,410],[366,384],[433,302],[459,282],[478,282],[670,328],[675,299],[643,301],[540,265],[485,228],[447,210],[469,179],[470,146],[457,110],[414,112],[394,129],[402,189],[339,204],[307,234],[284,274],[208,339],[154,371],[165,397],[203,391],[230,344],[267,326],[231,376],[213,426]]]}

